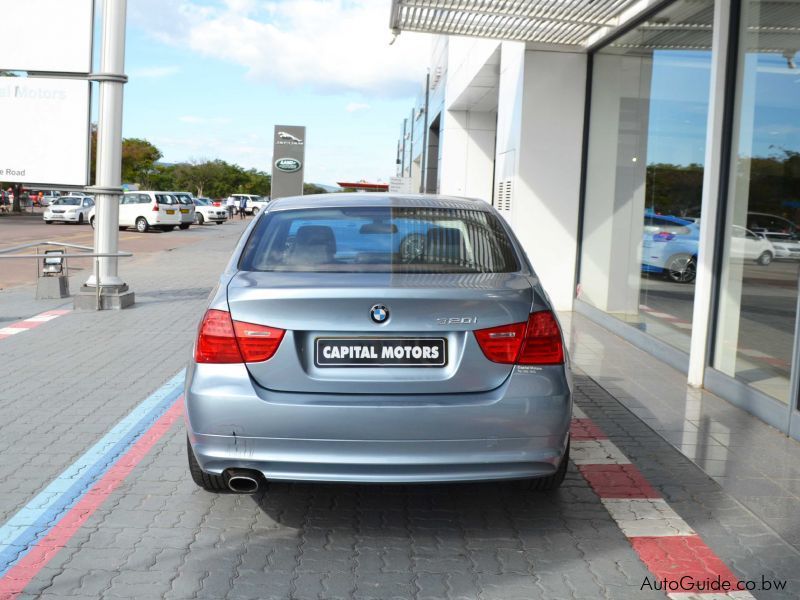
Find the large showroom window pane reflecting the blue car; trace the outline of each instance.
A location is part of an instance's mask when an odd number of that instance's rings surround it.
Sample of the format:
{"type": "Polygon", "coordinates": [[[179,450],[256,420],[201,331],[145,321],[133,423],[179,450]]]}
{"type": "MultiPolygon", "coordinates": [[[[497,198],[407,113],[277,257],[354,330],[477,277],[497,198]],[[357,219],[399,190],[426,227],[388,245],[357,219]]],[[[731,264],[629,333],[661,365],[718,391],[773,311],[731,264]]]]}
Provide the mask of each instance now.
{"type": "Polygon", "coordinates": [[[594,55],[578,297],[689,351],[713,0],[679,0],[594,55]]]}

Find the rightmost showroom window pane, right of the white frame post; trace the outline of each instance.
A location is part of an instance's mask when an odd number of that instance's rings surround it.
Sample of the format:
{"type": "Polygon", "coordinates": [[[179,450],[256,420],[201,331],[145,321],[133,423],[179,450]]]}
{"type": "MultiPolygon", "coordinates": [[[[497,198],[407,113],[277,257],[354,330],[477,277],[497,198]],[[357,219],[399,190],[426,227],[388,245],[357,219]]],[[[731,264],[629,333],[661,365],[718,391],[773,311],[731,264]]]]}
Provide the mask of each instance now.
{"type": "Polygon", "coordinates": [[[800,269],[800,4],[742,3],[712,366],[786,402],[800,269]],[[794,26],[794,27],[789,27],[794,26]]]}

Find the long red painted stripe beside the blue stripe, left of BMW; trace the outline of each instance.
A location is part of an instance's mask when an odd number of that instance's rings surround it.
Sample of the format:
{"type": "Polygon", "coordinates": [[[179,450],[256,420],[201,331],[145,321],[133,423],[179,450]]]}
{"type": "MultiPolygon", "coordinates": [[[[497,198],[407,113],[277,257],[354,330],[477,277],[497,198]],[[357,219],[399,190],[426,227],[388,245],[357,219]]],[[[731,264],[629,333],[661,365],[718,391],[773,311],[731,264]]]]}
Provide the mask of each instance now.
{"type": "Polygon", "coordinates": [[[0,600],[13,600],[52,558],[66,546],[87,519],[133,471],[147,453],[183,414],[183,397],[131,446],[103,478],[0,579],[0,600]]]}

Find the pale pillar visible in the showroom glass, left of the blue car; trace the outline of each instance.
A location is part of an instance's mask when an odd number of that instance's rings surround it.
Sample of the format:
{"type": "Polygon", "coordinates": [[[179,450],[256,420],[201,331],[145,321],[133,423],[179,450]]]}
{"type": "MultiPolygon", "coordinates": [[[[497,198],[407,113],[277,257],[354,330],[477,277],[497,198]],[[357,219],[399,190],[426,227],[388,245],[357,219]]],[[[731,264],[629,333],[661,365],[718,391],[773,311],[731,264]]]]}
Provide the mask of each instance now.
{"type": "Polygon", "coordinates": [[[634,320],[639,314],[652,60],[598,54],[594,69],[579,297],[634,320]]]}

